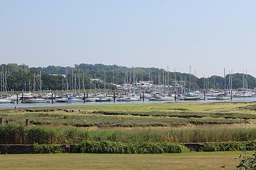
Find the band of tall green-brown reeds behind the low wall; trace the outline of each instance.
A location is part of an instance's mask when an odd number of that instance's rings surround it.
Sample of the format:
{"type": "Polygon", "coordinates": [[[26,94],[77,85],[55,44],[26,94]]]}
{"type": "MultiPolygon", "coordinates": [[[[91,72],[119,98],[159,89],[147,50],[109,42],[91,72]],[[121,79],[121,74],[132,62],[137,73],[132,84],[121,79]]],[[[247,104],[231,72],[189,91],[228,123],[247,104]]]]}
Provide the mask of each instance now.
{"type": "Polygon", "coordinates": [[[0,144],[75,144],[83,140],[113,142],[240,142],[256,140],[256,129],[238,126],[187,128],[74,128],[0,125],[0,144]]]}

